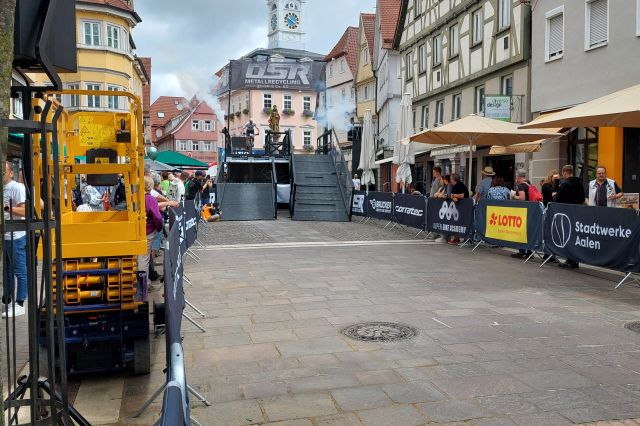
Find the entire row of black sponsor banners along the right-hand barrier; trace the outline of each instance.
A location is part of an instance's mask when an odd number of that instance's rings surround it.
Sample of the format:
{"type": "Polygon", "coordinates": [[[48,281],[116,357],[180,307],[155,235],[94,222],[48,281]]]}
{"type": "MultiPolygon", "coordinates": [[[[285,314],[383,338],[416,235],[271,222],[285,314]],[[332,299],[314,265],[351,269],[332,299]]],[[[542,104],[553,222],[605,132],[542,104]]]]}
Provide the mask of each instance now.
{"type": "Polygon", "coordinates": [[[544,251],[588,265],[640,273],[640,216],[630,209],[529,201],[354,192],[352,213],[502,247],[544,251]]]}

